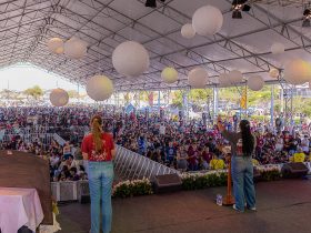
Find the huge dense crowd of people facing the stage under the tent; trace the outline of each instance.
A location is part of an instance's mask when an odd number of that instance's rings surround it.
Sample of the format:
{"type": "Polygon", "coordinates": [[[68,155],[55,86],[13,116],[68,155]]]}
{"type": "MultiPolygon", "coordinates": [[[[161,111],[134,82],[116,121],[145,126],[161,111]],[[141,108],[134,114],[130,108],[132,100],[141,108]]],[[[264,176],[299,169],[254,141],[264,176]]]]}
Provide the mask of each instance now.
{"type": "MultiPolygon", "coordinates": [[[[51,180],[86,180],[80,143],[89,130],[90,118],[100,114],[104,130],[113,133],[117,144],[180,171],[218,170],[227,165],[221,150],[228,145],[215,125],[201,120],[177,121],[158,114],[121,114],[97,108],[0,108],[0,149],[30,152],[50,161],[51,180]],[[24,134],[58,133],[68,142],[56,140],[24,140],[24,134]],[[10,134],[10,140],[3,140],[10,134]]],[[[229,131],[233,120],[224,122],[229,131]]],[[[251,121],[255,135],[253,163],[275,164],[308,161],[310,131],[282,129],[278,131],[262,122],[251,121]]]]}

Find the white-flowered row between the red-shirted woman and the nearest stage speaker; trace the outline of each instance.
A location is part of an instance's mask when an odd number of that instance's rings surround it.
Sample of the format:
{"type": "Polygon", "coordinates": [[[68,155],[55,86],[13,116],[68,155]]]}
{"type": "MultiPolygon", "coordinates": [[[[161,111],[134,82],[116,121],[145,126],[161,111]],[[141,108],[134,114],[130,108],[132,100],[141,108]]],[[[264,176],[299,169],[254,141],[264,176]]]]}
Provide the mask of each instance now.
{"type": "Polygon", "coordinates": [[[137,195],[152,194],[152,184],[149,179],[123,181],[118,183],[112,189],[113,197],[129,197],[137,195]]]}

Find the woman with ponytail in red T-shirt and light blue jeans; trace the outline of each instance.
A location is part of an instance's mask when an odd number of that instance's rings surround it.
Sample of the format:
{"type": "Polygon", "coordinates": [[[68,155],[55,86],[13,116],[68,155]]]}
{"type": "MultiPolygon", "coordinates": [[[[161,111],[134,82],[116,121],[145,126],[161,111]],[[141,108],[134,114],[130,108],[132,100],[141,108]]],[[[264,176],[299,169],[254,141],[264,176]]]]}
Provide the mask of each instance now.
{"type": "Polygon", "coordinates": [[[111,232],[113,163],[116,155],[111,134],[103,132],[102,119],[91,119],[91,133],[82,141],[83,159],[89,160],[89,186],[91,195],[91,231],[100,232],[100,200],[102,201],[102,231],[111,232]]]}

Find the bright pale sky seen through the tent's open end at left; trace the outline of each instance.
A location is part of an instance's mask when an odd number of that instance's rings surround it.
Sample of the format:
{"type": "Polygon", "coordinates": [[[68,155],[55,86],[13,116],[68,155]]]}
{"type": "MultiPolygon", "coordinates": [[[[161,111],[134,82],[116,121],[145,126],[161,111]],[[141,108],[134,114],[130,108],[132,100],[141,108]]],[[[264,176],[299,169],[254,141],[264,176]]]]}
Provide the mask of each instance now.
{"type": "MultiPolygon", "coordinates": [[[[23,91],[33,85],[40,85],[43,90],[61,88],[64,90],[78,90],[77,83],[71,83],[58,74],[31,64],[16,64],[0,69],[0,90],[10,89],[23,91]]],[[[80,87],[80,93],[84,89],[80,87]]]]}

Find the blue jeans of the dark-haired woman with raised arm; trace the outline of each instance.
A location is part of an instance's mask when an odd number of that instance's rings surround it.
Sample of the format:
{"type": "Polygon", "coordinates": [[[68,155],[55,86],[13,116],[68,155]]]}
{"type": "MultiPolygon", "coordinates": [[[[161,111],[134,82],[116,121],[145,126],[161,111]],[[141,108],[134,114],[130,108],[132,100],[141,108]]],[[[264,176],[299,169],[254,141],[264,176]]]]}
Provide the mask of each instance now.
{"type": "Polygon", "coordinates": [[[232,156],[231,164],[235,206],[243,212],[245,201],[248,207],[255,206],[252,158],[232,156]]]}

